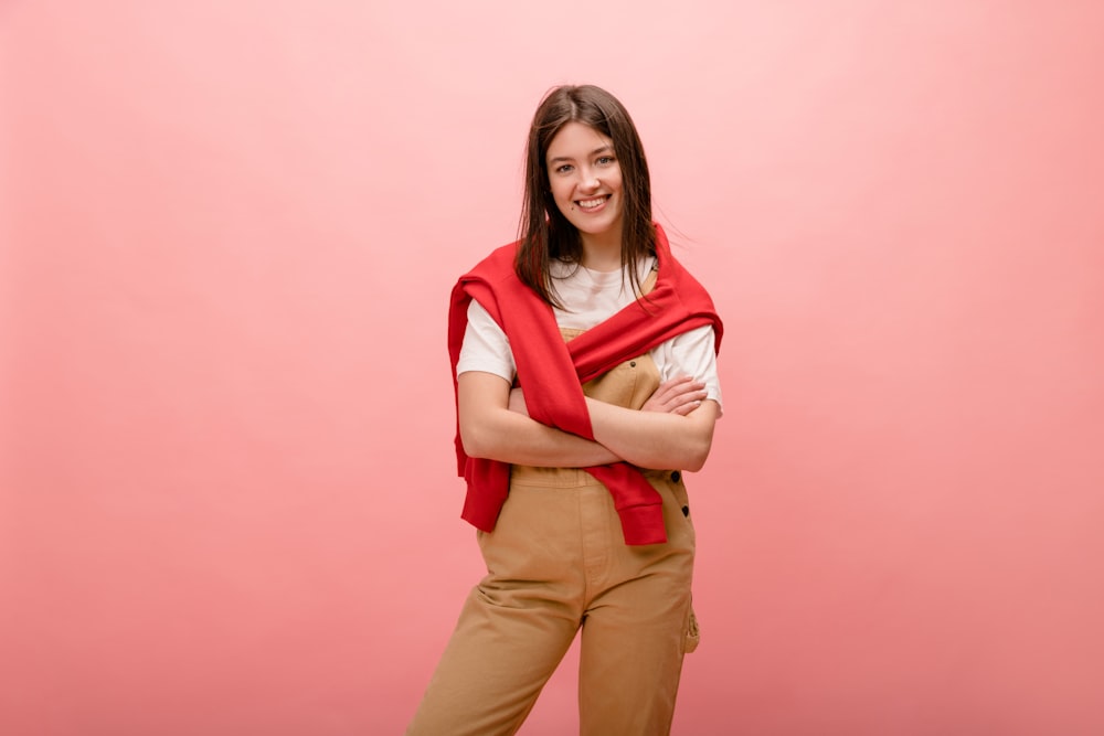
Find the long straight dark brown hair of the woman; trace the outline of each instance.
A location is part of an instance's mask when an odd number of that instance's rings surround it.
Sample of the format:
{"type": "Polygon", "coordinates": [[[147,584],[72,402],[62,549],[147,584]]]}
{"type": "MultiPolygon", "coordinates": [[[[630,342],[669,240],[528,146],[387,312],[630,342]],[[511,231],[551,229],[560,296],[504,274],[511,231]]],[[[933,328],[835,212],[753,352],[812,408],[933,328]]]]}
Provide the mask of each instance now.
{"type": "MultiPolygon", "coordinates": [[[[656,253],[651,224],[651,177],[640,136],[628,110],[616,97],[594,85],[562,86],[550,90],[533,115],[526,153],[526,189],[518,225],[520,246],[514,259],[518,277],[553,307],[563,308],[552,284],[553,259],[581,264],[583,242],[578,231],[560,212],[549,188],[548,150],[567,122],[582,122],[614,141],[622,172],[622,266],[656,253]]],[[[640,277],[629,268],[636,294],[640,277]]]]}

